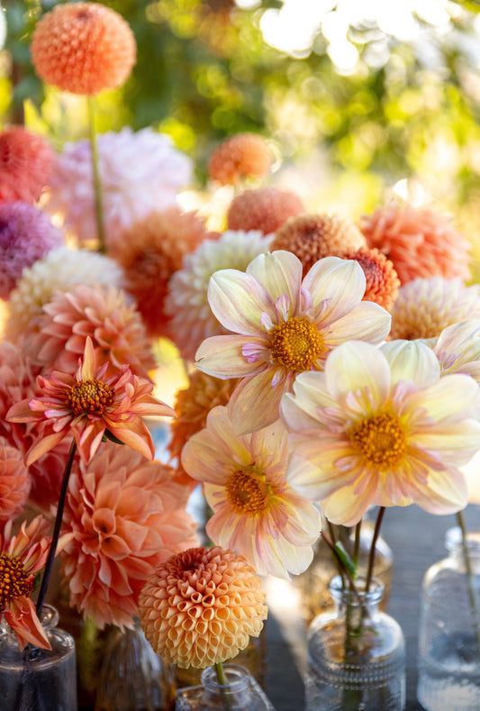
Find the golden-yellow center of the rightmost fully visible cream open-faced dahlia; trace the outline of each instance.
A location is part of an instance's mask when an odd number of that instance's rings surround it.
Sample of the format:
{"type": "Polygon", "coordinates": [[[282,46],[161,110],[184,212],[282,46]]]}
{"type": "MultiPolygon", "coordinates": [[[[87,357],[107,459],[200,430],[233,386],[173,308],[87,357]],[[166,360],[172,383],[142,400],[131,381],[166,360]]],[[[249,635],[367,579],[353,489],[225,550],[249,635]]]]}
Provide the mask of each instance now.
{"type": "Polygon", "coordinates": [[[391,467],[403,456],[406,436],[396,415],[382,413],[367,417],[349,432],[350,442],[362,452],[369,464],[391,467]]]}

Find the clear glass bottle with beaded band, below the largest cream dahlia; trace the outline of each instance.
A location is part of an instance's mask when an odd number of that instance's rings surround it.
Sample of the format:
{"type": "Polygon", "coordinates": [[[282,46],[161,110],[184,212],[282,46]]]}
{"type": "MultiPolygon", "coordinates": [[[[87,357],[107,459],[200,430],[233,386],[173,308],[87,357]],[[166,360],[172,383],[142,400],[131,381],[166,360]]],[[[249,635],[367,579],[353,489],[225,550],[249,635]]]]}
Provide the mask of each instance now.
{"type": "Polygon", "coordinates": [[[334,609],[316,617],[307,639],[305,711],[403,711],[405,646],[395,620],[378,609],[383,584],[331,580],[334,609]]]}

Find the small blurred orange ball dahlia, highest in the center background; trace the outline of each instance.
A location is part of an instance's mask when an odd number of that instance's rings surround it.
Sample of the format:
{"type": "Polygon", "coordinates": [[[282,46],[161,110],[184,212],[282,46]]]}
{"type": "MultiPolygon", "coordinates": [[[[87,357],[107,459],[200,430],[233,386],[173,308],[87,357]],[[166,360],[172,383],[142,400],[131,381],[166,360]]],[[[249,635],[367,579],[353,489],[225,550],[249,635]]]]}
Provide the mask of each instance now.
{"type": "Polygon", "coordinates": [[[236,185],[244,178],[262,178],[270,169],[272,153],[258,133],[237,133],[222,141],[208,161],[209,178],[236,185]]]}

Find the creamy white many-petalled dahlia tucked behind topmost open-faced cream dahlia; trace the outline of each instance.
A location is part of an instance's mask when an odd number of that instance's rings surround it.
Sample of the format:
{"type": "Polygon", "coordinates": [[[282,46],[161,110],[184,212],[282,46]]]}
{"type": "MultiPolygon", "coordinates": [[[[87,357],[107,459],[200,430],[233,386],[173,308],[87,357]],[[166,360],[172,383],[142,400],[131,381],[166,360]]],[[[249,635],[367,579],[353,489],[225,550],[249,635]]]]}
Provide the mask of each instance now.
{"type": "Polygon", "coordinates": [[[272,236],[261,232],[223,232],[218,240],[205,240],[186,254],[183,266],[168,282],[165,313],[170,320],[168,335],[186,360],[205,338],[228,333],[212,313],[208,303],[208,284],[219,269],[247,269],[258,254],[268,251],[272,236]]]}

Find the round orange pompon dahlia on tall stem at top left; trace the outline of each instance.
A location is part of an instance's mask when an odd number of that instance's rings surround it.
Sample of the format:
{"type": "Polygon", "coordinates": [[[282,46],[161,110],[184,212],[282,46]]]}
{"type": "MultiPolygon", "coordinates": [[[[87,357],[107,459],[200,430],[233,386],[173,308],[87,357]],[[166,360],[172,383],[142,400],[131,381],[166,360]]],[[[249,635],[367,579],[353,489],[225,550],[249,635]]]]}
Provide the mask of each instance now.
{"type": "Polygon", "coordinates": [[[72,94],[94,96],[122,87],[135,64],[137,46],[122,16],[99,3],[57,5],[32,35],[38,76],[72,94]]]}

